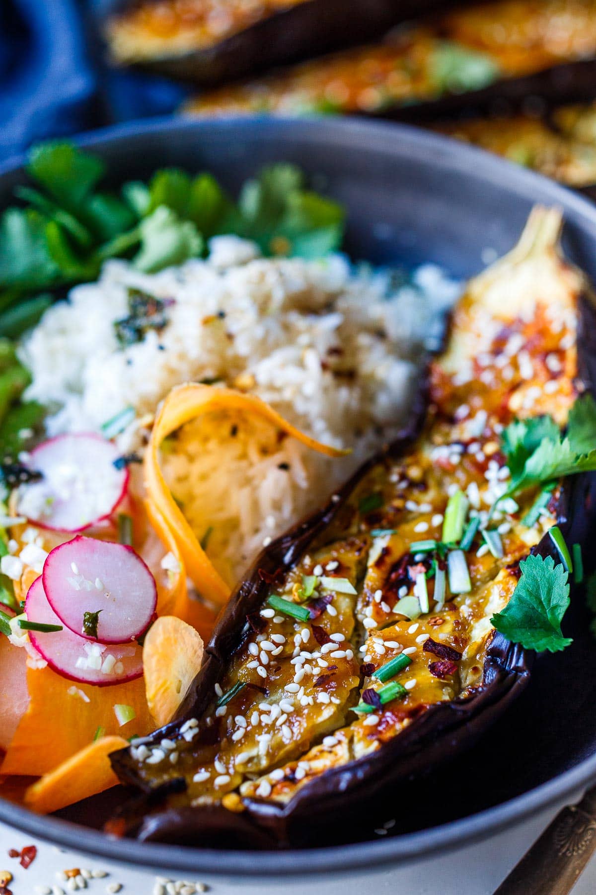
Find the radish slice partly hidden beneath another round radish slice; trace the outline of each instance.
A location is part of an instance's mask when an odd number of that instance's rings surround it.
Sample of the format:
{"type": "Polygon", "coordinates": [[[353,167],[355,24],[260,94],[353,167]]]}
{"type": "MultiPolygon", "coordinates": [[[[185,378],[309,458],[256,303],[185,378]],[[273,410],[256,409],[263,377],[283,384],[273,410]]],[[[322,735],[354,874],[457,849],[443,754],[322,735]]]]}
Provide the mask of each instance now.
{"type": "MultiPolygon", "coordinates": [[[[25,601],[29,621],[60,625],[60,618],[50,606],[41,578],[29,587],[25,601]]],[[[143,649],[139,644],[92,643],[73,634],[67,627],[51,634],[29,631],[29,639],[50,668],[63,678],[80,684],[109,686],[139,678],[143,673],[143,649]]]]}

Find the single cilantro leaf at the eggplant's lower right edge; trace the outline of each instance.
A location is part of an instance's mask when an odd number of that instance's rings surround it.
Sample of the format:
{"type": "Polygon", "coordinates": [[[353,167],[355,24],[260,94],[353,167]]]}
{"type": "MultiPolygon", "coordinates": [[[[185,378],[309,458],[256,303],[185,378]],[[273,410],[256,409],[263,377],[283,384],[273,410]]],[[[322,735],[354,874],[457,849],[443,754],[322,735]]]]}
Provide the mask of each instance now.
{"type": "Polygon", "coordinates": [[[531,555],[520,562],[522,576],[493,625],[514,644],[536,652],[558,652],[572,643],[561,631],[561,619],[569,606],[567,572],[552,557],[531,555]]]}

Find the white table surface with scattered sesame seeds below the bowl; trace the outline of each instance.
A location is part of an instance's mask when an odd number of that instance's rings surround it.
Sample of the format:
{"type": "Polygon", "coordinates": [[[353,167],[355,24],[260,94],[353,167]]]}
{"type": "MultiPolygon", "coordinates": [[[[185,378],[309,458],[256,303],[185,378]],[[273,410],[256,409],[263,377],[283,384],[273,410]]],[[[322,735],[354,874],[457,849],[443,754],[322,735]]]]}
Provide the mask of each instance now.
{"type": "MultiPolygon", "coordinates": [[[[556,812],[555,812],[556,813],[556,812]]],[[[303,878],[298,881],[272,881],[283,888],[283,895],[304,895],[306,886],[316,895],[352,895],[363,892],[363,888],[374,882],[375,895],[491,895],[499,882],[516,865],[517,860],[550,822],[550,814],[534,818],[514,830],[500,833],[499,836],[474,846],[462,848],[455,855],[436,857],[424,864],[407,865],[390,871],[375,872],[371,867],[363,877],[350,874],[343,878],[303,878]],[[364,885],[363,885],[364,884],[364,885]]],[[[11,830],[0,824],[0,870],[10,870],[13,882],[10,889],[13,895],[37,895],[36,887],[59,886],[64,895],[69,895],[65,882],[60,882],[56,873],[71,867],[98,869],[108,875],[101,879],[88,881],[88,895],[105,895],[108,886],[113,883],[122,885],[122,895],[153,895],[156,874],[139,871],[128,866],[110,864],[100,859],[77,855],[74,852],[63,852],[44,842],[30,840],[27,834],[11,830]],[[22,870],[18,860],[7,856],[9,848],[21,849],[23,846],[35,844],[38,857],[28,870],[22,870]],[[4,856],[4,857],[3,857],[4,856]]],[[[164,872],[168,880],[175,880],[171,873],[164,872]]],[[[214,895],[263,895],[268,886],[263,882],[243,882],[237,879],[226,879],[222,874],[210,877],[200,874],[190,877],[189,882],[201,882],[214,895]]],[[[159,890],[157,890],[159,891],[159,890]]],[[[579,880],[575,884],[573,895],[594,895],[596,891],[596,856],[592,858],[579,880]]],[[[56,891],[58,895],[58,891],[56,891]]]]}

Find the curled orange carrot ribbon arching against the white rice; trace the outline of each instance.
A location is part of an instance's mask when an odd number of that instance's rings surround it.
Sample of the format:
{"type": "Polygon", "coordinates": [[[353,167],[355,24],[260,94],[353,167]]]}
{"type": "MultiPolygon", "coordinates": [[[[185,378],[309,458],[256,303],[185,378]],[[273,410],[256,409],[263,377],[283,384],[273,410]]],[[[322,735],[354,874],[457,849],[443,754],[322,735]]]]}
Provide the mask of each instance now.
{"type": "Polygon", "coordinates": [[[214,388],[197,383],[172,388],[155,419],[145,455],[147,514],[155,525],[155,531],[164,541],[167,542],[173,537],[177,542],[190,580],[201,596],[222,605],[230,596],[230,587],[207,557],[180,507],[172,498],[159,465],[159,447],[168,435],[203,413],[219,410],[256,413],[292,438],[298,439],[306,447],[311,447],[326,456],[345,456],[349,451],[339,450],[310,438],[256,396],[246,395],[231,388],[214,388]]]}

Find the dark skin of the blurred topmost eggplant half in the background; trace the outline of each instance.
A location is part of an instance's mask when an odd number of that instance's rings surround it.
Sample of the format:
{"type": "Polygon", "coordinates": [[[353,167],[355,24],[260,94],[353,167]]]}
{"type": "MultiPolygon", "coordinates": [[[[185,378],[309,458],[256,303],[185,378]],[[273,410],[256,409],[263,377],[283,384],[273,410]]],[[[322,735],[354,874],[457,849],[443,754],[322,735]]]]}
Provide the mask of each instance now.
{"type": "MultiPolygon", "coordinates": [[[[135,47],[128,46],[134,13],[141,5],[150,8],[157,2],[116,4],[105,23],[113,62],[204,87],[372,40],[401,21],[451,5],[446,0],[288,0],[286,8],[280,3],[278,11],[201,47],[176,50],[168,48],[164,38],[159,50],[143,49],[141,34],[135,36],[135,47]]],[[[175,3],[161,5],[167,9],[175,3]]],[[[196,5],[206,4],[197,0],[196,5]]]]}

